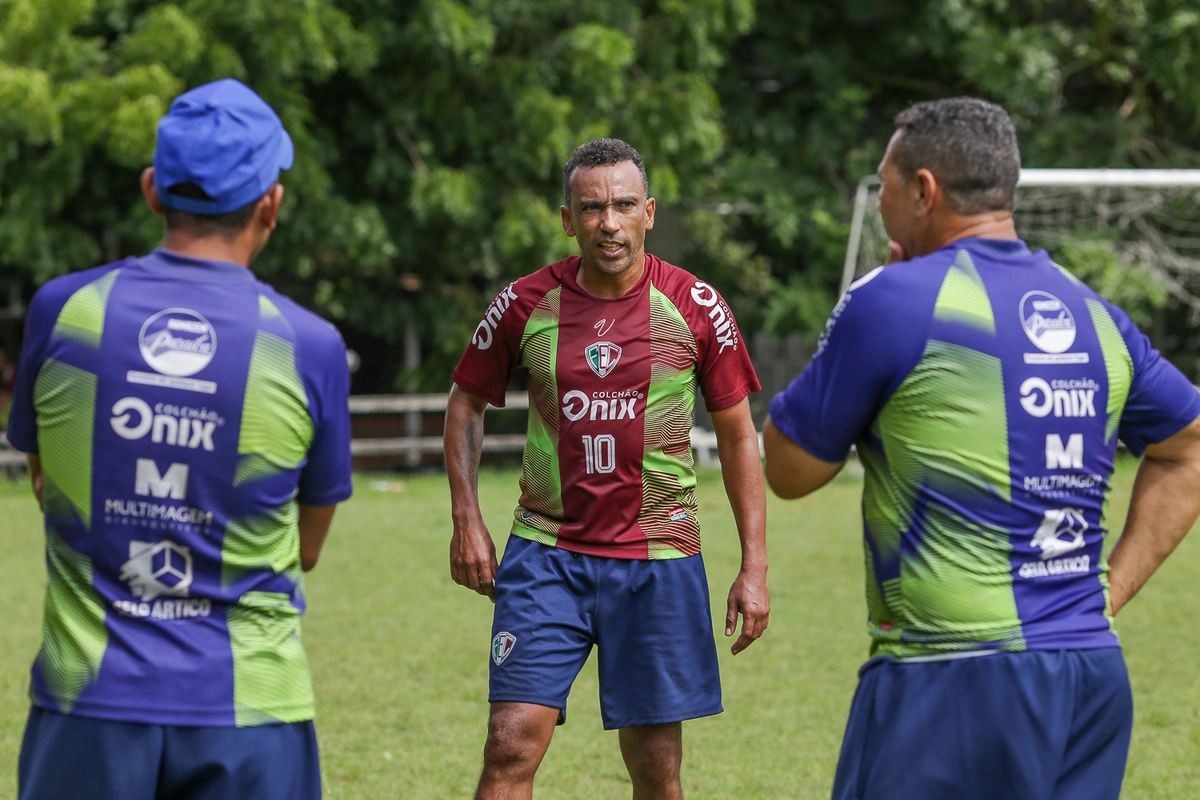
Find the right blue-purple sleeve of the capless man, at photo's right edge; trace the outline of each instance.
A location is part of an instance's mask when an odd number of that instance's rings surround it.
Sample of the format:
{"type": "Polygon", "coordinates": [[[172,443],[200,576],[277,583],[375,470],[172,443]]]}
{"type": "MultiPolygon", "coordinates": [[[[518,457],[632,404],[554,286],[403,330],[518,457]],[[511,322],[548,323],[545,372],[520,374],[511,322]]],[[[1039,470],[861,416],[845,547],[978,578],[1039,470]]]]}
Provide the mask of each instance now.
{"type": "Polygon", "coordinates": [[[1133,361],[1129,396],[1117,435],[1135,455],[1169,439],[1200,416],[1200,392],[1180,369],[1156,350],[1128,314],[1104,302],[1133,361]]]}

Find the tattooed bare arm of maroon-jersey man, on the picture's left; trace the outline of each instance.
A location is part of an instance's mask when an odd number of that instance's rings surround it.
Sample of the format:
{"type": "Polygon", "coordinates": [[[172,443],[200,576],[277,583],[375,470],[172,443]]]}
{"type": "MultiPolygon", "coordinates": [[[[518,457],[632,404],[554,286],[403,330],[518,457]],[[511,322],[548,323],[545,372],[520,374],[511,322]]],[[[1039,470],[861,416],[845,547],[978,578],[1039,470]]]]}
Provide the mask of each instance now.
{"type": "Polygon", "coordinates": [[[443,447],[450,479],[450,577],[496,601],[496,543],[479,507],[479,459],[487,401],[455,384],[446,403],[443,447]]]}

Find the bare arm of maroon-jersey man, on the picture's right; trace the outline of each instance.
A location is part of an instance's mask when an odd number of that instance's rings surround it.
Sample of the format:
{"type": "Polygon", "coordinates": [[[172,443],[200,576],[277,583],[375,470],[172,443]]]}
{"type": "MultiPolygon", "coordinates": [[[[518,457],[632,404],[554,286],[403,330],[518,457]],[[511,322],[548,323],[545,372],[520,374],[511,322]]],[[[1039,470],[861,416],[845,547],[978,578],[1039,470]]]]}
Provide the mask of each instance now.
{"type": "Polygon", "coordinates": [[[713,411],[716,452],[721,459],[725,493],[733,507],[733,519],[742,540],[742,569],[730,588],[725,614],[725,636],[733,636],[742,614],[742,634],[733,643],[733,655],[754,644],[767,630],[770,591],[767,589],[767,491],[762,485],[758,432],[750,415],[750,401],[743,399],[713,411]]]}

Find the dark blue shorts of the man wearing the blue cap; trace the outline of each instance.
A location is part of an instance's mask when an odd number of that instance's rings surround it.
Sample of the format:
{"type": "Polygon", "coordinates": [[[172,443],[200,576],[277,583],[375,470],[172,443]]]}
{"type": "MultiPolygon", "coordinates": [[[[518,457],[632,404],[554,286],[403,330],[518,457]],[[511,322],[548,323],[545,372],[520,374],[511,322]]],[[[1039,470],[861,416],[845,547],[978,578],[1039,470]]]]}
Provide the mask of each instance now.
{"type": "Polygon", "coordinates": [[[34,706],[19,800],[320,800],[312,722],[185,728],[92,720],[34,706]]]}

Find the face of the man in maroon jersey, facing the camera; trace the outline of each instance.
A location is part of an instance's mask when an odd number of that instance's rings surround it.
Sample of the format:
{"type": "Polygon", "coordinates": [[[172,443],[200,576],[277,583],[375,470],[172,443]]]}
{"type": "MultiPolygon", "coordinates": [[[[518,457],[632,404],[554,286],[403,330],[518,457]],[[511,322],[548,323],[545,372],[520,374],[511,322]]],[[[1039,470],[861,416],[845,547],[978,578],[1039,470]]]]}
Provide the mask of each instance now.
{"type": "Polygon", "coordinates": [[[570,187],[563,230],[578,240],[584,265],[605,275],[625,272],[642,257],[646,231],[654,227],[654,198],[646,197],[641,170],[631,161],[581,167],[570,187]]]}

